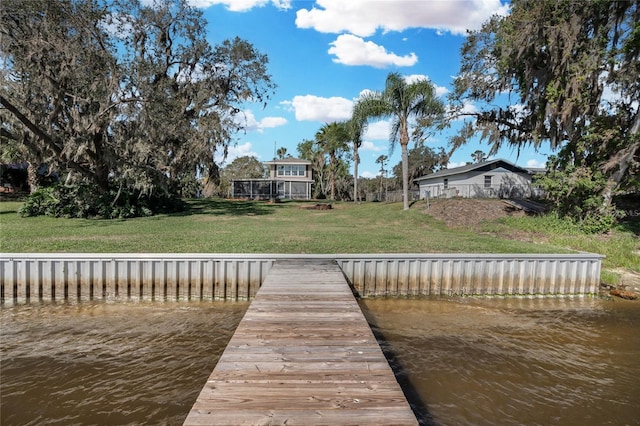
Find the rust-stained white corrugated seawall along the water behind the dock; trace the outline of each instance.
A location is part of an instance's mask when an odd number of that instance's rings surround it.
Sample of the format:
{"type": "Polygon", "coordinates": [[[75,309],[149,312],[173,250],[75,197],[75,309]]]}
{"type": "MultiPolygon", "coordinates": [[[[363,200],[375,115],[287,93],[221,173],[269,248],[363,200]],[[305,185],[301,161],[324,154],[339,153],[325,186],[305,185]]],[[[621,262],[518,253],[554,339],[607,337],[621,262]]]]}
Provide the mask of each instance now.
{"type": "Polygon", "coordinates": [[[335,259],[362,297],[595,294],[598,254],[0,255],[0,302],[248,300],[278,259],[335,259]]]}

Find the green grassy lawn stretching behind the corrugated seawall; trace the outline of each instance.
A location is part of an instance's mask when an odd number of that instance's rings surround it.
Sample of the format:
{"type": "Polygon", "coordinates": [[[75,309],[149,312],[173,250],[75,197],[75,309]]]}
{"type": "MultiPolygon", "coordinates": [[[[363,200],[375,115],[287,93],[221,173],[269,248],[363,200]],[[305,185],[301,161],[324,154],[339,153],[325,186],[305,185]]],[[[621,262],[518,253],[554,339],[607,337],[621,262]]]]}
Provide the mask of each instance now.
{"type": "Polygon", "coordinates": [[[191,200],[180,214],[128,220],[21,218],[0,203],[0,251],[149,253],[567,253],[607,256],[608,268],[640,271],[631,230],[586,236],[545,218],[509,218],[448,228],[417,203],[191,200]]]}

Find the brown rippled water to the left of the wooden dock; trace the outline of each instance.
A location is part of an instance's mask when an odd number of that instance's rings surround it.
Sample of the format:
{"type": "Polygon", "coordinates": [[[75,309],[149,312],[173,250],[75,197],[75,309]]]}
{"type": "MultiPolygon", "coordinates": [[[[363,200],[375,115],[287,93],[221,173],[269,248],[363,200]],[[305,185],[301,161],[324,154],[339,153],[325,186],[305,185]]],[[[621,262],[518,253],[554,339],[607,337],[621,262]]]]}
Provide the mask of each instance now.
{"type": "Polygon", "coordinates": [[[182,424],[247,306],[2,308],[2,424],[182,424]]]}

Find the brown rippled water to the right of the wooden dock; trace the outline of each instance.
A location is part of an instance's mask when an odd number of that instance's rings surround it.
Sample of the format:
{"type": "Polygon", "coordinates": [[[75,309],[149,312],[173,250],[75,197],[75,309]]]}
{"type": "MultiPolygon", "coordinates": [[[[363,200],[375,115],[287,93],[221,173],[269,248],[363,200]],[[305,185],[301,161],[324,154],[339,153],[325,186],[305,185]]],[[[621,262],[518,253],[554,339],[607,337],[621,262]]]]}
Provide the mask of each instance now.
{"type": "Polygon", "coordinates": [[[422,424],[638,424],[640,305],[361,302],[422,424]]]}

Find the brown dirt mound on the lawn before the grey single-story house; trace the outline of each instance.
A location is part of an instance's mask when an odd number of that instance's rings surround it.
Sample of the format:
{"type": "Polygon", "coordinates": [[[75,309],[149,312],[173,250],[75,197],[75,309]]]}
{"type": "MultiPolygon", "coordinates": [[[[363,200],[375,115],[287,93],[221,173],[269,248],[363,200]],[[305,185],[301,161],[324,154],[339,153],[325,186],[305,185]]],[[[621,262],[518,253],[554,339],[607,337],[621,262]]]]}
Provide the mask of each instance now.
{"type": "Polygon", "coordinates": [[[525,214],[502,200],[459,198],[432,200],[425,212],[450,227],[476,227],[484,221],[525,214]]]}

